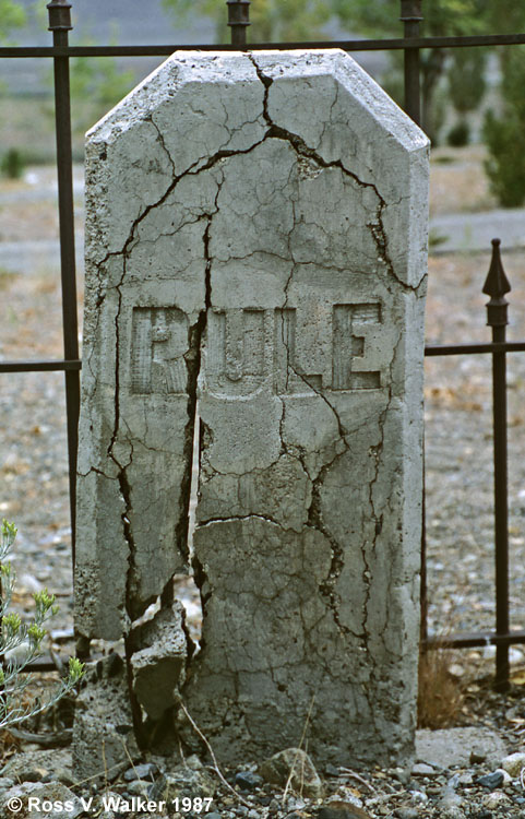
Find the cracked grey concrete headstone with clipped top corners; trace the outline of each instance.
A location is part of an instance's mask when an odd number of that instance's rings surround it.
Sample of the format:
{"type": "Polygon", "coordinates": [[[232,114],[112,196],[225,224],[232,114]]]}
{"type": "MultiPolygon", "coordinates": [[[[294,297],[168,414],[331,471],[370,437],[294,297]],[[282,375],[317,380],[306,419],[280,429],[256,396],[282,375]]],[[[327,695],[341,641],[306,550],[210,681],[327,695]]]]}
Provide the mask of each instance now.
{"type": "Polygon", "coordinates": [[[90,133],[76,625],[184,570],[199,393],[183,697],[225,761],[307,719],[315,762],[413,752],[427,189],[337,49],[174,55],[90,133]]]}

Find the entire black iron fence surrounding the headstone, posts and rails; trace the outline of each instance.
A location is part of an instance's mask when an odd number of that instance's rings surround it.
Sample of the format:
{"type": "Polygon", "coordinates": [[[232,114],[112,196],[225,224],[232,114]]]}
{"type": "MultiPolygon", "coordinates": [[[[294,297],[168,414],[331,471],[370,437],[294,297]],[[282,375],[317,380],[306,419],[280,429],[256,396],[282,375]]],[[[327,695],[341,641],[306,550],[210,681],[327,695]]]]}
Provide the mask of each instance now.
{"type": "MultiPolygon", "coordinates": [[[[68,452],[70,479],[70,509],[72,550],[74,562],[75,475],[77,450],[77,420],[80,408],[79,331],[76,316],[76,276],[73,227],[73,183],[71,155],[71,95],[69,60],[72,57],[165,57],[176,50],[259,50],[265,48],[341,48],[345,51],[404,51],[404,84],[406,112],[420,123],[421,86],[420,51],[435,48],[472,48],[480,46],[512,46],[525,44],[525,34],[484,35],[474,37],[421,37],[422,0],[401,0],[399,20],[404,37],[367,40],[315,40],[308,43],[261,43],[247,45],[250,25],[250,0],[227,0],[228,25],[231,43],[223,45],[160,45],[160,46],[70,46],[71,3],[51,0],[47,4],[52,46],[3,47],[0,58],[48,58],[55,68],[55,118],[57,138],[57,168],[59,190],[60,264],[62,282],[63,349],[61,360],[0,361],[1,372],[63,371],[65,378],[65,407],[68,422],[68,452]]],[[[425,348],[426,356],[478,355],[492,356],[493,395],[493,453],[494,453],[494,560],[496,560],[496,630],[493,632],[455,633],[432,640],[427,634],[427,584],[425,520],[421,542],[421,644],[423,649],[437,644],[449,648],[496,645],[496,687],[509,686],[509,646],[525,643],[525,631],[511,630],[509,614],[509,525],[508,525],[508,470],[506,470],[506,354],[525,352],[525,342],[506,342],[505,294],[511,289],[503,272],[500,242],[492,241],[492,261],[482,292],[490,296],[487,305],[492,341],[475,344],[437,345],[425,348]]],[[[425,517],[425,515],[423,515],[425,517]]],[[[53,667],[39,663],[40,669],[53,667]]]]}

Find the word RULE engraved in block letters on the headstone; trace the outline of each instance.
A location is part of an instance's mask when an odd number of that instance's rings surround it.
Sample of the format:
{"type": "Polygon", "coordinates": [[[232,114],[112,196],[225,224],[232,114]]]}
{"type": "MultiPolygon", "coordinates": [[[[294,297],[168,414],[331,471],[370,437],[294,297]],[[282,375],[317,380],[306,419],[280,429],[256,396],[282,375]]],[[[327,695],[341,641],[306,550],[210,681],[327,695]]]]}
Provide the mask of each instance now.
{"type": "MultiPolygon", "coordinates": [[[[278,395],[312,391],[378,390],[384,372],[371,360],[368,336],[382,323],[380,302],[333,305],[326,316],[326,366],[311,366],[309,323],[296,308],[231,308],[207,317],[207,388],[250,395],[271,382],[278,395]],[[300,331],[299,331],[300,327],[300,331]],[[303,342],[302,344],[300,342],[303,342]],[[370,358],[370,360],[369,360],[370,358]]],[[[184,393],[188,322],[176,307],[135,307],[132,321],[131,392],[184,393]]],[[[315,356],[314,356],[315,357],[315,356]]],[[[319,357],[319,355],[318,355],[319,357]]],[[[315,361],[313,361],[315,365],[315,361]]]]}

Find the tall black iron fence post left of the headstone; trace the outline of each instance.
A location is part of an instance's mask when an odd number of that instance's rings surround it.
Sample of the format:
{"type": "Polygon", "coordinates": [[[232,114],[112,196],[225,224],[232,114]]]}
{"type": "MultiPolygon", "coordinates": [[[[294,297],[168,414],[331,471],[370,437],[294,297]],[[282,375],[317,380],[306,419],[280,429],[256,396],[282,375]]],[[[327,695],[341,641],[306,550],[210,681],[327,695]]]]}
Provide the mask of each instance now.
{"type": "MultiPolygon", "coordinates": [[[[49,31],[53,46],[68,46],[71,25],[71,3],[51,0],[47,4],[49,31]]],[[[71,99],[69,58],[53,57],[55,121],[57,134],[58,206],[60,225],[60,270],[62,281],[63,349],[65,359],[79,358],[76,318],[76,277],[74,256],[73,175],[71,151],[71,99]]],[[[76,450],[79,444],[80,375],[65,370],[65,411],[68,417],[69,492],[71,510],[71,542],[74,567],[76,450]]]]}

